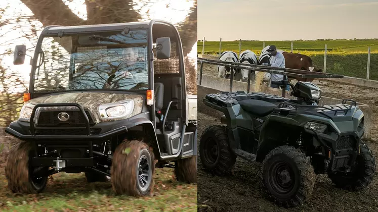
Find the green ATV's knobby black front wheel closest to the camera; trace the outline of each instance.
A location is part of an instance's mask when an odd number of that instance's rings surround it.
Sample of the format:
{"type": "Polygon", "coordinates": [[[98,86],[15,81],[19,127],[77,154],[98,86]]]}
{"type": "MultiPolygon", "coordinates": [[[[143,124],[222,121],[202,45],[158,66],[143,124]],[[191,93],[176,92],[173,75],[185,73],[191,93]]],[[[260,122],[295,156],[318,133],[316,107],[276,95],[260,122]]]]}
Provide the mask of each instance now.
{"type": "Polygon", "coordinates": [[[316,175],[304,152],[291,146],[279,146],[266,155],[262,178],[276,204],[292,207],[311,197],[316,175]]]}

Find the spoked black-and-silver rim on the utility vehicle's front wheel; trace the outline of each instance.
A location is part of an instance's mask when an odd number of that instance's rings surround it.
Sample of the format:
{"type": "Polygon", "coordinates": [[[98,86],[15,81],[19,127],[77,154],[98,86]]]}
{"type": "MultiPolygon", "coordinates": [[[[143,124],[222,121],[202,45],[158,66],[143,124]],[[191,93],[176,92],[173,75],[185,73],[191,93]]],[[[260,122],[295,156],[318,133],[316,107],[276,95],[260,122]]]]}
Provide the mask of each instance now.
{"type": "Polygon", "coordinates": [[[138,163],[138,185],[142,191],[146,191],[151,184],[151,162],[146,155],[139,158],[138,163]]]}

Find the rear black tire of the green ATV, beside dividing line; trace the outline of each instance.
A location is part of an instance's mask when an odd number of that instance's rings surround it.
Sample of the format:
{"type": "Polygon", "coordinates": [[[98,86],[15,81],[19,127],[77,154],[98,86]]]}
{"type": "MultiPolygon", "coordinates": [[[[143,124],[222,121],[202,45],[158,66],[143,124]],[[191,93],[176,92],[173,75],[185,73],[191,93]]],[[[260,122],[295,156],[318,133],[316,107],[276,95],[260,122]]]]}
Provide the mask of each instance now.
{"type": "Polygon", "coordinates": [[[231,151],[227,128],[214,125],[205,129],[199,143],[199,156],[202,166],[215,175],[225,175],[236,162],[236,155],[231,151]]]}

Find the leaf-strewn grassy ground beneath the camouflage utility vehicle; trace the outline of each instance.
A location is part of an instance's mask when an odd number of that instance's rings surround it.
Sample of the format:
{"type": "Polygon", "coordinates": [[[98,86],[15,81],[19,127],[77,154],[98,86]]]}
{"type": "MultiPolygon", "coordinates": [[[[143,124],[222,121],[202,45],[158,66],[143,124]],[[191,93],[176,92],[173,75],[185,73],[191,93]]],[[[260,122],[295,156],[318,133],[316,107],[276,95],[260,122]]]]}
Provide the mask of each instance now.
{"type": "Polygon", "coordinates": [[[87,183],[83,173],[53,175],[40,194],[13,194],[0,173],[0,210],[197,211],[197,185],[177,182],[172,169],[157,169],[155,173],[154,196],[140,198],[115,195],[110,182],[87,183]]]}

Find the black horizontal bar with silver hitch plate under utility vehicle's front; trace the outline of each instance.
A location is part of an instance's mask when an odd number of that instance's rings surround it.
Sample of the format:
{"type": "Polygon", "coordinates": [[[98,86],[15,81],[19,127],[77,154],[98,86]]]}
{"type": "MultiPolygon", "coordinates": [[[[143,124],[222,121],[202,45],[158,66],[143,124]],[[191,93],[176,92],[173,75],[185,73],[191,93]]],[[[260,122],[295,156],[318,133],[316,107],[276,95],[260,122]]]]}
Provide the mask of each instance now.
{"type": "MultiPolygon", "coordinates": [[[[34,157],[31,160],[31,165],[33,167],[57,167],[57,158],[56,157],[34,157]]],[[[59,158],[58,166],[64,164],[64,167],[93,167],[94,160],[93,157],[87,158],[59,158]],[[62,163],[63,161],[63,163],[62,163]]]]}

